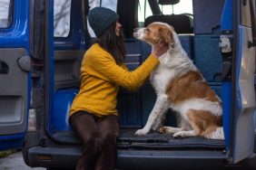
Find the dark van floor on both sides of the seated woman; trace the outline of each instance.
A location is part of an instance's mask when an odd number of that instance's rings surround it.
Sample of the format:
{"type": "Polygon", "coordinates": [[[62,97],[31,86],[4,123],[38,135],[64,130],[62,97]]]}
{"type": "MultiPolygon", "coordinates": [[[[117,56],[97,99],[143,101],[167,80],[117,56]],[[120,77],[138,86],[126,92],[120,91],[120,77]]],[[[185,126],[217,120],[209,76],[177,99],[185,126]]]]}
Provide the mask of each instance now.
{"type": "MultiPolygon", "coordinates": [[[[143,136],[135,136],[138,128],[122,127],[117,145],[119,148],[212,148],[224,149],[224,140],[210,140],[203,137],[173,138],[172,134],[152,132],[143,136]]],[[[81,141],[72,130],[55,131],[52,137],[66,144],[81,145],[81,141]]]]}

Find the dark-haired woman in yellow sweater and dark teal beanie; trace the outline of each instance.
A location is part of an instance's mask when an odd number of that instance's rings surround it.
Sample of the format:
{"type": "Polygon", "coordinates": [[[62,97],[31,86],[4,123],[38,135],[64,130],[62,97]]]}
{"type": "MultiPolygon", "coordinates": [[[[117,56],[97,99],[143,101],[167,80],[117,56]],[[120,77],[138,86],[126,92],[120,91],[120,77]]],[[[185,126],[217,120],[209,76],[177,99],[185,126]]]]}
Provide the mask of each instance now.
{"type": "Polygon", "coordinates": [[[69,121],[84,148],[76,169],[113,170],[116,138],[119,135],[116,95],[119,86],[138,89],[159,64],[167,45],[159,44],[135,71],[123,63],[124,38],[119,16],[112,10],[95,7],[88,21],[97,36],[84,54],[81,87],[70,109],[69,121]]]}

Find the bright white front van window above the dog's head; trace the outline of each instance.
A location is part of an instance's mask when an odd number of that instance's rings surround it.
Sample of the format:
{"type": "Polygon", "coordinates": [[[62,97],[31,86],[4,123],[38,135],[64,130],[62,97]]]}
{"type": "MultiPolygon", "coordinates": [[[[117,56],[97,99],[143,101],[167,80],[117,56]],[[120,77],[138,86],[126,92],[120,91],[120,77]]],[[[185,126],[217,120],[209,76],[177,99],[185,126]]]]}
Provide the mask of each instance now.
{"type": "MultiPolygon", "coordinates": [[[[159,5],[162,14],[192,14],[192,0],[180,0],[176,5],[159,5]]],[[[143,26],[145,18],[153,15],[148,0],[139,0],[138,22],[143,26]]]]}

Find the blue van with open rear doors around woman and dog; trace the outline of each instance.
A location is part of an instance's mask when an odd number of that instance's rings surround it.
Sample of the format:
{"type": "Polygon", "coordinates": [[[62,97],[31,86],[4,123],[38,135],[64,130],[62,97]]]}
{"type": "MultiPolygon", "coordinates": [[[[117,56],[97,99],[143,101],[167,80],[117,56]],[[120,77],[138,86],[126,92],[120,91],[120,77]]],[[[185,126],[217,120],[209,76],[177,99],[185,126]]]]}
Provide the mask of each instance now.
{"type": "MultiPolygon", "coordinates": [[[[22,148],[25,164],[74,169],[81,141],[68,123],[84,52],[94,41],[86,17],[104,6],[120,15],[133,71],[151,47],[133,29],[172,24],[182,47],[222,99],[225,140],[142,137],[156,99],[146,82],[121,89],[117,169],[256,169],[255,0],[0,0],[0,150],[22,148]]],[[[172,110],[166,125],[175,126],[172,110]]]]}

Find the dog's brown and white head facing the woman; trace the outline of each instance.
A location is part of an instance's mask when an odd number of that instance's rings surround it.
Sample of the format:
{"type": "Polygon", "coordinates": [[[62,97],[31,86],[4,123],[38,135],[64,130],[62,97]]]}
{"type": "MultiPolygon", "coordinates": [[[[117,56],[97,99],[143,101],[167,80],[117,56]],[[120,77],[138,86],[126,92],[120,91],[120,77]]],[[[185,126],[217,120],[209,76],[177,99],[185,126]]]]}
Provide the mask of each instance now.
{"type": "Polygon", "coordinates": [[[175,43],[175,35],[176,33],[171,25],[160,22],[154,22],[145,28],[135,29],[133,33],[133,36],[136,39],[142,40],[143,42],[147,42],[151,45],[158,42],[165,42],[171,47],[173,47],[175,43]]]}

